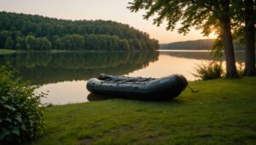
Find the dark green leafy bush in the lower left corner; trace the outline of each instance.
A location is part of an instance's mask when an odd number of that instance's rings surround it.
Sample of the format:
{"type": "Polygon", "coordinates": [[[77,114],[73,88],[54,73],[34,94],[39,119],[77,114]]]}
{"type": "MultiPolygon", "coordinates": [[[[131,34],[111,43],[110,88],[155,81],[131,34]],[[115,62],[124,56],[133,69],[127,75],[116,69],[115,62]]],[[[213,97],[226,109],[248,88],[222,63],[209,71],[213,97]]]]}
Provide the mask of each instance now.
{"type": "Polygon", "coordinates": [[[9,65],[0,67],[0,142],[25,142],[43,135],[44,109],[37,86],[15,77],[9,65]]]}

